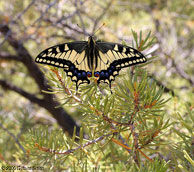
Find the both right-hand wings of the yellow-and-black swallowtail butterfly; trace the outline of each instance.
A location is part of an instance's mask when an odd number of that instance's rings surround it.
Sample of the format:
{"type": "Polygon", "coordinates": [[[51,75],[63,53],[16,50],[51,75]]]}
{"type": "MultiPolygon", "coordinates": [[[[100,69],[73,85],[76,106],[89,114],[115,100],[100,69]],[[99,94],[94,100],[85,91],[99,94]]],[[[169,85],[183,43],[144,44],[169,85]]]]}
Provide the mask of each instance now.
{"type": "Polygon", "coordinates": [[[146,62],[145,56],[134,48],[110,42],[96,42],[99,71],[98,83],[110,85],[122,68],[146,62]],[[103,68],[102,68],[102,67],[103,68]],[[103,70],[100,70],[103,69],[103,70]]]}

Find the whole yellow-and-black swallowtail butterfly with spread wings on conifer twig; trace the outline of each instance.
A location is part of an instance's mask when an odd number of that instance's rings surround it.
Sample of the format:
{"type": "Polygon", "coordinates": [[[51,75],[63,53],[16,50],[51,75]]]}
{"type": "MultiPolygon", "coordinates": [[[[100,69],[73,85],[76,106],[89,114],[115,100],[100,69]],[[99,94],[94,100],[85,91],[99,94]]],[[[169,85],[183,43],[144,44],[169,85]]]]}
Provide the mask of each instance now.
{"type": "Polygon", "coordinates": [[[115,80],[122,68],[146,62],[146,57],[138,50],[118,43],[95,41],[75,41],[52,46],[42,51],[35,62],[62,68],[76,83],[90,83],[96,77],[97,84],[109,84],[115,80]]]}

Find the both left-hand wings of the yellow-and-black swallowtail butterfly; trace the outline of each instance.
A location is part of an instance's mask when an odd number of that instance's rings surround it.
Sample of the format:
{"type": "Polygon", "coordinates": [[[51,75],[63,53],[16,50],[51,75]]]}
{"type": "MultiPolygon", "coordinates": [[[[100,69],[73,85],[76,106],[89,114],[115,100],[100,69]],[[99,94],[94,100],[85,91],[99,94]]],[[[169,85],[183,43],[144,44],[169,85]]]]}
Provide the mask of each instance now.
{"type": "Polygon", "coordinates": [[[42,51],[35,59],[37,63],[63,68],[67,76],[76,82],[76,87],[82,83],[88,83],[86,70],[86,41],[77,41],[59,44],[42,51]]]}

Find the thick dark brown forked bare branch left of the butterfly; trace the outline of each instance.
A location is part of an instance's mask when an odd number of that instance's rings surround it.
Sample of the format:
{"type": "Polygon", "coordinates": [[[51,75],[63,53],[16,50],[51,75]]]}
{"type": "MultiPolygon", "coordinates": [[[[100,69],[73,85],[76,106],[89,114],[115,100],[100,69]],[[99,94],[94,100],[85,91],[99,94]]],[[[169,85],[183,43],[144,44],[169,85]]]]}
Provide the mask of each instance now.
{"type": "MultiPolygon", "coordinates": [[[[38,85],[40,91],[45,90],[48,91],[51,89],[51,87],[48,85],[48,80],[45,78],[43,72],[39,69],[38,65],[34,62],[32,56],[29,54],[28,50],[24,47],[22,42],[17,40],[14,35],[11,32],[11,29],[8,27],[8,25],[0,25],[0,32],[6,36],[8,32],[9,34],[7,41],[8,43],[15,49],[17,55],[12,56],[9,54],[1,53],[1,58],[4,59],[13,59],[13,60],[19,60],[26,66],[28,69],[29,74],[31,77],[35,80],[36,84],[38,85]],[[6,55],[8,55],[6,57],[6,55]],[[18,56],[18,57],[17,57],[18,56]]],[[[32,96],[31,94],[22,91],[21,89],[18,89],[18,87],[15,87],[13,85],[8,84],[7,82],[4,82],[1,80],[1,85],[4,85],[4,87],[10,88],[10,90],[14,90],[15,92],[20,93],[20,95],[23,95],[24,97],[31,99],[33,102],[38,102],[39,105],[41,104],[41,107],[44,107],[48,112],[50,112],[53,117],[57,120],[59,125],[63,128],[64,131],[68,131],[70,134],[73,134],[74,126],[77,128],[77,134],[79,131],[79,126],[76,125],[74,120],[67,114],[67,112],[62,108],[56,108],[60,105],[58,101],[56,101],[55,95],[46,94],[44,92],[41,92],[41,94],[44,96],[43,99],[40,101],[35,96],[32,96]]]]}

